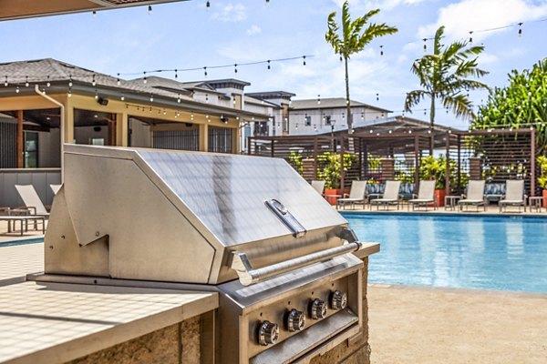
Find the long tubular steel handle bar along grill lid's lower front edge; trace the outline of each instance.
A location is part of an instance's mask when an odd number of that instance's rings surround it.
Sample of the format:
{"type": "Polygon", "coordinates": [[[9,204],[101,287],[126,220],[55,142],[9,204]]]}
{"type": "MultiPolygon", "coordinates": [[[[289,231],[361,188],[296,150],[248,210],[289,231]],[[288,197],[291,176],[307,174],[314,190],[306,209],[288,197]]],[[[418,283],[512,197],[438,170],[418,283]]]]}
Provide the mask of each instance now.
{"type": "Polygon", "coordinates": [[[341,247],[329,248],[321,250],[315,253],[311,253],[302,257],[286,260],[281,263],[276,263],[271,266],[253,269],[249,258],[243,252],[234,251],[232,257],[232,269],[236,271],[239,276],[240,283],[243,286],[249,286],[253,283],[257,283],[267,278],[278,276],[289,270],[302,268],[309,266],[318,261],[322,261],[328,258],[334,258],[346,253],[355,252],[364,248],[368,248],[369,244],[361,241],[354,241],[347,243],[341,247]]]}

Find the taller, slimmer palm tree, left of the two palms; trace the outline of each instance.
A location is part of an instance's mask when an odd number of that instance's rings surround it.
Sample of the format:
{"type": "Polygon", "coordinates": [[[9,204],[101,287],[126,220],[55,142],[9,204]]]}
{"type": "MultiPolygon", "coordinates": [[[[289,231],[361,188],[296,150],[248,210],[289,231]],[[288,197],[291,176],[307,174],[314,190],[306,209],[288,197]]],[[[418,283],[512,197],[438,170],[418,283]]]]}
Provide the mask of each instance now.
{"type": "Polygon", "coordinates": [[[328,30],[325,33],[325,40],[333,47],[336,55],[340,55],[340,60],[344,60],[346,66],[346,115],[347,115],[347,131],[352,133],[353,120],[351,117],[351,106],[349,101],[349,76],[347,73],[347,60],[349,56],[362,51],[365,45],[369,44],[378,36],[390,35],[397,33],[397,28],[382,24],[368,24],[368,19],[377,15],[380,9],[371,10],[366,15],[359,16],[352,21],[349,14],[348,0],[342,5],[342,33],[338,34],[340,26],[335,22],[336,12],[328,15],[328,30]]]}

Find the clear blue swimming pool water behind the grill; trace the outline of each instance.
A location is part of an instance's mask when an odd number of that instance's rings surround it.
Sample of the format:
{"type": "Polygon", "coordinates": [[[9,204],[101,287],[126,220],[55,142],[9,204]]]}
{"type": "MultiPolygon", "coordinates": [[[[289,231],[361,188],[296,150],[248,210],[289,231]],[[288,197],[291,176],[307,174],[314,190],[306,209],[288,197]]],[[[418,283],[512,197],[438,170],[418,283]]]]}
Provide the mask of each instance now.
{"type": "Polygon", "coordinates": [[[371,282],[547,293],[547,218],[343,214],[371,282]]]}

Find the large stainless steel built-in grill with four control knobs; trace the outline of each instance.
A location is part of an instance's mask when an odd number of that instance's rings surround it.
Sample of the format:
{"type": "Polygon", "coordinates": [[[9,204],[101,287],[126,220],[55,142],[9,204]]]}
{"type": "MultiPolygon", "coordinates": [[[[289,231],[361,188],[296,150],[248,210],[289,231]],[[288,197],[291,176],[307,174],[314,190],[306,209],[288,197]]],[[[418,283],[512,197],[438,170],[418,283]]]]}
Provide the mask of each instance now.
{"type": "Polygon", "coordinates": [[[356,335],[351,253],[378,249],[284,160],[83,146],[65,148],[45,243],[50,279],[218,291],[217,363],[306,362],[356,335]]]}

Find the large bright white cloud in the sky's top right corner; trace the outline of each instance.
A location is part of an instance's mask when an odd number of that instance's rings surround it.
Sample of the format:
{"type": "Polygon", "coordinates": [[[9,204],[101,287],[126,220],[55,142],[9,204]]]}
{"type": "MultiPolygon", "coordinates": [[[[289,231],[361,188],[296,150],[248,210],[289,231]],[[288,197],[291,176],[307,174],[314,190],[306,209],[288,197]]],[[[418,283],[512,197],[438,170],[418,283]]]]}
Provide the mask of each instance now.
{"type": "Polygon", "coordinates": [[[547,0],[462,0],[439,9],[439,18],[435,24],[421,26],[420,38],[431,37],[440,25],[445,25],[445,35],[449,40],[466,39],[474,31],[473,42],[508,31],[504,28],[495,31],[481,31],[519,22],[537,20],[547,15],[547,0]]]}

